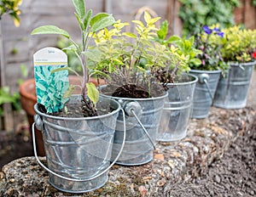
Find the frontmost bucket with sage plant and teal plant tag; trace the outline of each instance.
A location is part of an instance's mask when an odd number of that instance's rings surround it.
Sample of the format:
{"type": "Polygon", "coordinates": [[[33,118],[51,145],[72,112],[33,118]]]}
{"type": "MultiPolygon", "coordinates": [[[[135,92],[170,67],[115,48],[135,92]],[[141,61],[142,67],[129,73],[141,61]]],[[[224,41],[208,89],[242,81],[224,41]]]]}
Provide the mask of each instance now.
{"type": "MultiPolygon", "coordinates": [[[[93,16],[92,10],[86,10],[84,0],[73,0],[73,5],[82,35],[80,43],[74,42],[67,31],[54,25],[39,26],[32,31],[32,35],[58,34],[66,37],[73,45],[65,50],[73,50],[77,54],[83,70],[81,94],[72,95],[74,87],[67,87],[68,80],[64,76],[67,70],[77,73],[75,70],[63,65],[51,70],[45,68],[45,65],[37,68],[45,72],[35,73],[39,78],[36,80],[42,82],[37,87],[40,97],[35,105],[35,122],[38,130],[43,132],[48,167],[38,159],[35,141],[34,152],[38,163],[49,172],[49,183],[56,189],[83,193],[98,189],[108,181],[108,169],[115,163],[113,160],[110,164],[110,157],[120,105],[114,100],[99,96],[96,86],[89,82],[93,70],[88,69],[86,59],[91,37],[96,31],[113,25],[115,20],[106,13],[93,16]],[[63,77],[57,79],[56,76],[63,77]],[[73,108],[79,113],[73,112],[73,108]]],[[[59,49],[47,49],[48,53],[60,53],[64,60],[67,58],[59,49]]],[[[123,145],[124,143],[125,135],[123,145]]],[[[116,160],[121,150],[122,147],[116,160]]]]}

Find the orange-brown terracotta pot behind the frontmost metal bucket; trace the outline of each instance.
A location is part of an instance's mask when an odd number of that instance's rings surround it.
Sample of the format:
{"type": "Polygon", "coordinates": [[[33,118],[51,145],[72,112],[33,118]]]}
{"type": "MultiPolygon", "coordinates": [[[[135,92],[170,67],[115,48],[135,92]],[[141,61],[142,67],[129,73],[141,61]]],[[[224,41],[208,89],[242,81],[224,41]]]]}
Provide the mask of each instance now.
{"type": "MultiPolygon", "coordinates": [[[[81,81],[79,80],[78,76],[69,76],[69,82],[72,85],[81,85],[81,81]]],[[[97,80],[95,78],[90,78],[90,82],[93,82],[96,86],[97,80]]],[[[100,81],[102,85],[104,81],[100,81]]],[[[75,87],[74,93],[79,93],[79,87],[75,87]]],[[[23,110],[26,111],[27,121],[29,122],[30,130],[32,132],[32,124],[34,122],[34,105],[37,103],[37,96],[36,96],[36,83],[35,80],[28,79],[25,82],[20,84],[20,103],[23,110]]],[[[36,142],[37,142],[37,149],[38,155],[44,156],[44,143],[43,143],[43,136],[42,132],[36,129],[36,142]]]]}

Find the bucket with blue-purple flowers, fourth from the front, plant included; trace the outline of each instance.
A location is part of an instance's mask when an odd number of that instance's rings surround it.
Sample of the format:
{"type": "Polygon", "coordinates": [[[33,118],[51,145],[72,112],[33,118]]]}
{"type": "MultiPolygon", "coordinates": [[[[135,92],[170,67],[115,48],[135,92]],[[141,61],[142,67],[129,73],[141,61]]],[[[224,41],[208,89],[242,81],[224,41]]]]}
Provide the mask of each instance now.
{"type": "Polygon", "coordinates": [[[201,53],[196,55],[198,59],[201,59],[201,64],[195,64],[195,62],[189,64],[191,69],[189,73],[198,76],[192,118],[206,118],[212,106],[218,79],[228,68],[220,53],[221,45],[214,42],[216,39],[224,37],[224,32],[220,31],[218,25],[210,27],[204,25],[199,33],[195,33],[194,37],[195,48],[201,50],[201,53]]]}

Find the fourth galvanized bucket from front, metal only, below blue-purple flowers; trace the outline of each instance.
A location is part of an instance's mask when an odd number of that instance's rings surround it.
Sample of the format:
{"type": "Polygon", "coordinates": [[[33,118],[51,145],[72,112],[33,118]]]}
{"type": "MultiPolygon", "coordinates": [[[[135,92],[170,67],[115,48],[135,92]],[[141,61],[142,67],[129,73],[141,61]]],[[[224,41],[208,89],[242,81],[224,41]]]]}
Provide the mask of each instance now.
{"type": "Polygon", "coordinates": [[[193,98],[192,118],[206,118],[212,106],[221,70],[190,70],[198,77],[193,98]]]}

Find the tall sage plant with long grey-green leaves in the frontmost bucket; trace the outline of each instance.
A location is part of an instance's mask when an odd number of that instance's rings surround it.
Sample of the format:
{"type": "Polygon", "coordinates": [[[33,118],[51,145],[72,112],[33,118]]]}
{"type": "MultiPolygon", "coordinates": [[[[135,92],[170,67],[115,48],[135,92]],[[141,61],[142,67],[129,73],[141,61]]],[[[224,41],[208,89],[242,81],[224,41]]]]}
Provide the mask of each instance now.
{"type": "MultiPolygon", "coordinates": [[[[115,20],[113,19],[113,16],[111,14],[106,13],[99,13],[95,16],[92,16],[92,10],[86,10],[84,0],[73,0],[73,5],[75,7],[76,13],[75,17],[79,23],[81,35],[82,35],[82,42],[74,42],[72,37],[68,34],[67,31],[62,30],[61,28],[55,26],[55,25],[44,25],[36,28],[32,31],[32,35],[36,34],[58,34],[62,37],[66,37],[70,42],[72,42],[72,45],[68,48],[65,48],[65,51],[73,51],[79,59],[80,64],[82,65],[83,75],[84,75],[84,86],[82,87],[82,95],[85,98],[86,97],[86,82],[89,80],[89,70],[87,68],[87,61],[85,53],[88,49],[89,42],[91,37],[93,37],[94,33],[96,31],[100,31],[105,27],[108,27],[108,25],[113,25],[115,20]]],[[[96,93],[96,87],[95,90],[92,91],[92,93],[96,93]]],[[[91,101],[95,100],[95,96],[92,96],[92,94],[88,94],[88,97],[91,101]]]]}

